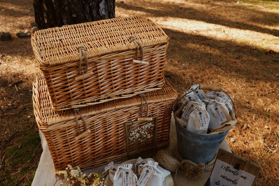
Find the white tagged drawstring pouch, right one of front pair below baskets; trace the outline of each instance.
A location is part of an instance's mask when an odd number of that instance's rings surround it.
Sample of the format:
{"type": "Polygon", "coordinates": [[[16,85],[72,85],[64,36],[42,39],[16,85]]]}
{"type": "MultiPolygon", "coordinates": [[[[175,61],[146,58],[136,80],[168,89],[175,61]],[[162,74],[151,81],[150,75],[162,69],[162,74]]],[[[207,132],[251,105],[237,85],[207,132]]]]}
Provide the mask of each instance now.
{"type": "Polygon", "coordinates": [[[169,171],[163,169],[153,159],[146,160],[138,159],[139,178],[137,186],[162,186],[166,176],[170,174],[169,171]]]}

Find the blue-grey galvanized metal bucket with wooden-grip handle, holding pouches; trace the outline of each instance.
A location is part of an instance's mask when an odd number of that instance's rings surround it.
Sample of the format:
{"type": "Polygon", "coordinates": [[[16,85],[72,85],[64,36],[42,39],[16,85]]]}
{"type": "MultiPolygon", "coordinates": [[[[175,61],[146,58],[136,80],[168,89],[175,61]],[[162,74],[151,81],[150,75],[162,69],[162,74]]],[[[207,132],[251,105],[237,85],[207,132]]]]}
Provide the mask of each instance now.
{"type": "MultiPolygon", "coordinates": [[[[178,105],[176,103],[173,109],[174,116],[177,110],[178,105]]],[[[196,134],[186,130],[178,123],[176,117],[174,118],[178,141],[178,152],[180,156],[183,159],[191,160],[196,164],[207,163],[212,160],[214,158],[214,155],[217,153],[221,143],[228,134],[228,131],[216,135],[196,134]]]]}

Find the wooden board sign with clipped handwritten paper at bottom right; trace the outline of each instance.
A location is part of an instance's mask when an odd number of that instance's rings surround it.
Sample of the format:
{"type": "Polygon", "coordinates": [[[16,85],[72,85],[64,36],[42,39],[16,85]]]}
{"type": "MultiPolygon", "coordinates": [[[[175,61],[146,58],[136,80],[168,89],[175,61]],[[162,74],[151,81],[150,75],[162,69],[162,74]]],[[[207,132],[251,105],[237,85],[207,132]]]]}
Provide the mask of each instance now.
{"type": "Polygon", "coordinates": [[[251,186],[262,167],[219,149],[210,176],[210,186],[251,186]]]}

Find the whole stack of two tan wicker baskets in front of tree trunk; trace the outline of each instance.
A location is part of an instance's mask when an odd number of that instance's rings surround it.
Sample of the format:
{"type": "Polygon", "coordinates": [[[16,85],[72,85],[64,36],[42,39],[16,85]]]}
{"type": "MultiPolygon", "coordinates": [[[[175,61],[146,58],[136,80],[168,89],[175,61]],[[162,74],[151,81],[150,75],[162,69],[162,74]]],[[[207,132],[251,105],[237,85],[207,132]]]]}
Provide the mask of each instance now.
{"type": "Polygon", "coordinates": [[[54,168],[83,169],[169,144],[176,91],[164,79],[169,37],[144,17],[107,19],[35,32],[42,70],[34,114],[54,168]],[[150,138],[129,132],[151,123],[150,138]]]}

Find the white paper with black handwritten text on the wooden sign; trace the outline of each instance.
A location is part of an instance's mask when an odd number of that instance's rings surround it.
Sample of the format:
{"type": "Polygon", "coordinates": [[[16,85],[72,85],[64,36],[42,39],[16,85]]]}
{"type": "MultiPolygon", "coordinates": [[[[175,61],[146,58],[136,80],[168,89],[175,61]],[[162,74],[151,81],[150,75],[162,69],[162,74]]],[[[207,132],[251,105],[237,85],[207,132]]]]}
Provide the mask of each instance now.
{"type": "Polygon", "coordinates": [[[216,160],[214,169],[210,176],[211,186],[251,186],[255,176],[233,168],[232,165],[216,160]]]}

